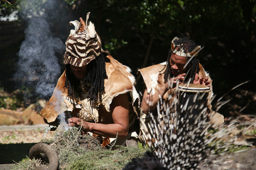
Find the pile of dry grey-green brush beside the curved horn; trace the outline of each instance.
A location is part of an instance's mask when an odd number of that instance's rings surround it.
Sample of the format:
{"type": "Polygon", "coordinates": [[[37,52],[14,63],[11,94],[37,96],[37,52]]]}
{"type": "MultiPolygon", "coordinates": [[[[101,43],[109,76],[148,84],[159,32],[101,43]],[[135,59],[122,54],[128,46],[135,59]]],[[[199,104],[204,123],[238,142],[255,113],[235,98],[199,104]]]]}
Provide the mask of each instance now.
{"type": "MultiPolygon", "coordinates": [[[[70,127],[60,130],[53,139],[41,142],[50,144],[59,157],[59,169],[122,169],[132,158],[143,156],[149,148],[120,146],[117,150],[102,148],[99,141],[89,135],[81,135],[80,129],[70,127]]],[[[111,147],[111,146],[110,146],[111,147]]],[[[32,159],[20,162],[16,170],[30,170],[37,166],[48,166],[47,160],[32,159]]]]}

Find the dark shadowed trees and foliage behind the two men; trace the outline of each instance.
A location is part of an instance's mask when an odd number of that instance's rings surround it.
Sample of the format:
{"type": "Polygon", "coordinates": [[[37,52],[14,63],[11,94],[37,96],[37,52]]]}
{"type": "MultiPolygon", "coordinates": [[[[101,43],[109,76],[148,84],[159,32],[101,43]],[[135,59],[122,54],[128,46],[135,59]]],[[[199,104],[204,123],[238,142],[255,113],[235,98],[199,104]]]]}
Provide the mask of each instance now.
{"type": "MultiPolygon", "coordinates": [[[[198,58],[213,79],[217,98],[237,84],[252,80],[240,86],[236,94],[254,92],[244,102],[255,103],[255,3],[256,0],[17,0],[11,5],[1,1],[1,86],[10,91],[17,88],[12,75],[30,12],[49,13],[51,32],[64,44],[73,29],[68,22],[85,19],[90,11],[103,48],[132,69],[140,91],[143,82],[137,70],[165,61],[172,39],[185,36],[204,46],[198,58]],[[45,2],[57,4],[57,8],[47,9],[45,2]],[[29,10],[24,11],[28,6],[29,10]],[[17,19],[8,21],[6,16],[14,12],[17,19]]],[[[63,54],[57,54],[61,72],[63,54]]]]}

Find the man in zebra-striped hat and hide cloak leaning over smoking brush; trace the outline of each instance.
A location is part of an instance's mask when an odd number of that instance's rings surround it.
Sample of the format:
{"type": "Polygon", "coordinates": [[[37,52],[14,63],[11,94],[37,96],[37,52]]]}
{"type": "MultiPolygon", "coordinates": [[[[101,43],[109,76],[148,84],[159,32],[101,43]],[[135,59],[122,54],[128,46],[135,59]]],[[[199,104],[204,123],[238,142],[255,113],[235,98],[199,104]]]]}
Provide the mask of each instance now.
{"type": "Polygon", "coordinates": [[[107,143],[117,136],[121,145],[140,132],[135,78],[129,67],[102,49],[89,14],[85,22],[80,18],[69,23],[75,29],[66,41],[66,70],[41,115],[46,123],[58,125],[58,115],[69,112],[70,126],[82,126],[85,133],[108,138],[107,143]]]}

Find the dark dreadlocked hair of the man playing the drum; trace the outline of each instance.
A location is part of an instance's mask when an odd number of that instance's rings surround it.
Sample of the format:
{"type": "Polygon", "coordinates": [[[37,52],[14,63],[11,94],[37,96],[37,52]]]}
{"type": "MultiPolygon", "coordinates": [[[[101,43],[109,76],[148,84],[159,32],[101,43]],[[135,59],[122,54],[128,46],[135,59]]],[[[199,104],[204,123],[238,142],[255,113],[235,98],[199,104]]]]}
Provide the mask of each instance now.
{"type": "MultiPolygon", "coordinates": [[[[175,44],[178,44],[180,46],[174,47],[174,49],[177,49],[177,51],[180,51],[180,48],[183,48],[183,50],[186,53],[192,52],[196,48],[196,43],[192,40],[189,40],[187,37],[184,37],[183,39],[180,38],[178,40],[174,41],[175,44]],[[181,46],[182,44],[182,46],[181,46]]],[[[167,57],[167,64],[165,65],[166,70],[164,71],[164,83],[166,83],[170,78],[172,78],[174,75],[172,75],[171,71],[171,64],[170,64],[170,57],[172,55],[172,50],[170,50],[168,57],[167,57]]],[[[188,61],[188,57],[187,61],[188,61]]],[[[164,67],[164,68],[165,68],[164,67]]],[[[188,68],[190,68],[189,73],[187,73],[187,76],[185,78],[185,82],[188,81],[190,78],[190,83],[192,83],[195,79],[196,73],[199,72],[199,60],[196,57],[193,57],[192,60],[188,64],[188,68]]]]}

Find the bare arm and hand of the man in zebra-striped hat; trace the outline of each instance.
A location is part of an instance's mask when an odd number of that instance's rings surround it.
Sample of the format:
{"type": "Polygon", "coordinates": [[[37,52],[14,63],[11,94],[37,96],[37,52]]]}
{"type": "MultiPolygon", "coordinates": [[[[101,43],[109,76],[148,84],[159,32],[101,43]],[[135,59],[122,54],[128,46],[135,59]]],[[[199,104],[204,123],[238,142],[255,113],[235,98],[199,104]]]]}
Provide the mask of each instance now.
{"type": "Polygon", "coordinates": [[[113,124],[90,123],[82,121],[80,118],[72,117],[69,120],[70,126],[81,126],[84,132],[92,132],[104,137],[124,138],[129,130],[129,95],[121,94],[116,96],[110,104],[113,124]]]}

